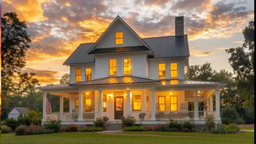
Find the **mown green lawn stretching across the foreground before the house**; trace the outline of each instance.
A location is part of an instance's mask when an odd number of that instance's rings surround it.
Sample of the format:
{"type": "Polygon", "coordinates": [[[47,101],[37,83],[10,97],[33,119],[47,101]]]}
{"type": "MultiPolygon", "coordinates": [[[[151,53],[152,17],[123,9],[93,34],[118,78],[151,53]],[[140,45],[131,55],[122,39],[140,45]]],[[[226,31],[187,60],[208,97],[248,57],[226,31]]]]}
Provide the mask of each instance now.
{"type": "Polygon", "coordinates": [[[254,133],[213,134],[184,132],[72,132],[48,135],[15,136],[2,134],[2,144],[252,144],[254,133]]]}

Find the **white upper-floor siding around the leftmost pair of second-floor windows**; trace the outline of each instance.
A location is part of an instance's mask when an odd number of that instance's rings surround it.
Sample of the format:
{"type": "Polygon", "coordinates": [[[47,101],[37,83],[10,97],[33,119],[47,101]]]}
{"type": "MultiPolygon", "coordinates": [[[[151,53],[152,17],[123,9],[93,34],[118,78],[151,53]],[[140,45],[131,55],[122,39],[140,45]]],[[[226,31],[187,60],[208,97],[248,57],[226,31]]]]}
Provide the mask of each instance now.
{"type": "Polygon", "coordinates": [[[85,68],[91,68],[91,79],[95,79],[95,63],[70,65],[70,83],[76,82],[76,68],[81,68],[82,81],[85,81],[85,68]]]}

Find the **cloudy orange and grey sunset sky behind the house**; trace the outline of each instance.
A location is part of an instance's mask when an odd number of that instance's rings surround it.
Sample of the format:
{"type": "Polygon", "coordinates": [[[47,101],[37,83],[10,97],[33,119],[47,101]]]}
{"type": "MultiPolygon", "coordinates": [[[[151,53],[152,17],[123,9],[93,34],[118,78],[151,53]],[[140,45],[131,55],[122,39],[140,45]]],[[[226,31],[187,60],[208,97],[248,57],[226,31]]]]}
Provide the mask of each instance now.
{"type": "Polygon", "coordinates": [[[1,16],[17,12],[28,25],[31,48],[23,72],[41,86],[58,84],[63,62],[80,43],[95,42],[119,15],[141,38],[174,35],[184,15],[190,65],[207,62],[232,72],[226,48],[242,46],[243,28],[254,19],[253,0],[2,0],[1,16]]]}

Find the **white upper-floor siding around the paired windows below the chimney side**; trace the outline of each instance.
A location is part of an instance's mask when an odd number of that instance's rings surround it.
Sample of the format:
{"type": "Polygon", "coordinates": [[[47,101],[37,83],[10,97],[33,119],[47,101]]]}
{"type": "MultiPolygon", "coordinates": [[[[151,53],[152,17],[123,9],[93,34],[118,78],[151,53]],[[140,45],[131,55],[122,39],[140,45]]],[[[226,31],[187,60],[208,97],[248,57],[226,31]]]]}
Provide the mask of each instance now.
{"type": "Polygon", "coordinates": [[[148,59],[148,78],[158,79],[158,64],[165,63],[166,79],[170,79],[170,63],[178,63],[178,79],[184,79],[184,58],[148,59]]]}

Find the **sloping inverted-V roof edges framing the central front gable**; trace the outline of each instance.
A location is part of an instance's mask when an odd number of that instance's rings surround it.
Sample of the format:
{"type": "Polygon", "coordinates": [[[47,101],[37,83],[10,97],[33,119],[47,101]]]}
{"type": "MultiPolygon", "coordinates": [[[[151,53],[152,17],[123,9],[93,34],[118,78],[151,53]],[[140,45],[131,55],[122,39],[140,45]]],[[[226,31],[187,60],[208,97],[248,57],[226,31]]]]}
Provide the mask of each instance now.
{"type": "MultiPolygon", "coordinates": [[[[123,24],[124,24],[125,26],[127,26],[128,29],[129,29],[130,31],[132,31],[133,34],[135,34],[136,37],[137,37],[138,39],[140,39],[141,42],[142,42],[147,48],[149,48],[149,50],[151,50],[151,48],[146,44],[146,42],[143,41],[143,40],[139,37],[139,35],[137,35],[137,33],[135,33],[135,32],[133,31],[133,29],[130,28],[130,26],[127,25],[126,22],[124,22],[123,19],[119,17],[119,15],[117,15],[117,17],[111,22],[111,24],[108,26],[108,28],[102,33],[102,35],[100,36],[100,38],[97,39],[97,41],[94,43],[94,45],[92,45],[92,47],[89,49],[88,52],[91,52],[91,51],[93,50],[94,46],[98,43],[98,41],[100,41],[100,39],[103,37],[103,35],[109,30],[109,28],[115,23],[115,21],[116,21],[117,19],[119,19],[121,22],[123,22],[123,24]]],[[[87,53],[88,53],[88,52],[87,52],[87,53]]],[[[151,50],[151,52],[152,52],[153,55],[154,55],[154,52],[153,52],[152,50],[151,50]]]]}

